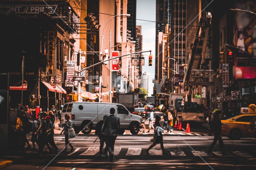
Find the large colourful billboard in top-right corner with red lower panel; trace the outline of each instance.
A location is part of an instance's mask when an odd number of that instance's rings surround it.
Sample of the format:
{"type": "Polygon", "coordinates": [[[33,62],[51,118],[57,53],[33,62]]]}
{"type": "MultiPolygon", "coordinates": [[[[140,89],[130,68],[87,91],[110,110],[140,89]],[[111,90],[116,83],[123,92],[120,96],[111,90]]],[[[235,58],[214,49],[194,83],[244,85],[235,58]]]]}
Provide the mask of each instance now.
{"type": "MultiPolygon", "coordinates": [[[[256,9],[254,0],[237,1],[236,9],[252,11],[256,9]]],[[[234,13],[234,47],[240,49],[234,53],[234,79],[256,78],[256,15],[250,12],[234,13]]]]}

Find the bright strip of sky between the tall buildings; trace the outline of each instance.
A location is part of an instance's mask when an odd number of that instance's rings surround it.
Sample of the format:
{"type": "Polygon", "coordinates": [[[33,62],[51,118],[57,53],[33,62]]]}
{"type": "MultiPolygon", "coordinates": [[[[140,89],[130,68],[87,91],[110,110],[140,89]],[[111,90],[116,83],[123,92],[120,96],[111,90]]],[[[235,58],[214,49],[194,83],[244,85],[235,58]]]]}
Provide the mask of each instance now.
{"type": "MultiPolygon", "coordinates": [[[[142,51],[151,50],[153,56],[152,66],[148,66],[148,55],[150,53],[143,53],[145,57],[145,65],[142,66],[142,74],[147,73],[150,77],[155,75],[155,41],[156,41],[156,23],[150,21],[156,21],[156,0],[137,0],[136,6],[136,25],[142,26],[142,51]],[[148,21],[141,21],[148,20],[148,21]]],[[[149,77],[148,82],[148,96],[153,94],[154,83],[152,78],[149,77]]]]}

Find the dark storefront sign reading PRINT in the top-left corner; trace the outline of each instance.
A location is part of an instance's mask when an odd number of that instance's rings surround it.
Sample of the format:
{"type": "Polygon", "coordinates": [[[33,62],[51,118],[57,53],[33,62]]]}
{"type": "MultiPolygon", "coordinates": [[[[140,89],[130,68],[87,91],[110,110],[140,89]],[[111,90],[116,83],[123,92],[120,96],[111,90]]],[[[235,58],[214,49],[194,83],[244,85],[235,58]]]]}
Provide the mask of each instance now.
{"type": "Polygon", "coordinates": [[[45,8],[50,7],[48,14],[54,14],[57,5],[0,5],[0,13],[17,13],[17,14],[39,14],[45,13],[45,8]]]}

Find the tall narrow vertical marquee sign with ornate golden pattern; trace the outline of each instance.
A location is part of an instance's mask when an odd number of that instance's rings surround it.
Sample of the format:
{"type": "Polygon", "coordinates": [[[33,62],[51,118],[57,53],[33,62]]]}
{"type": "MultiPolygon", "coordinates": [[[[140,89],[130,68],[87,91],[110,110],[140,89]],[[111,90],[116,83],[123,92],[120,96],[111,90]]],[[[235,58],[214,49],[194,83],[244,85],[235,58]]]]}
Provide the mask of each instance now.
{"type": "Polygon", "coordinates": [[[56,32],[46,33],[46,76],[56,76],[56,32]]]}

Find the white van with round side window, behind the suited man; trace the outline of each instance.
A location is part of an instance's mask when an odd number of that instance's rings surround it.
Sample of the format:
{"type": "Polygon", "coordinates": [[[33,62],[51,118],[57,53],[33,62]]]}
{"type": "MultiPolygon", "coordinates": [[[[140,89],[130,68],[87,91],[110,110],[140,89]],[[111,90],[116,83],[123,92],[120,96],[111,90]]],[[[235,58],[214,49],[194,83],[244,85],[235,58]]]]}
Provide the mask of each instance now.
{"type": "Polygon", "coordinates": [[[123,134],[124,130],[128,129],[132,134],[139,132],[140,126],[142,126],[142,117],[139,115],[131,114],[126,107],[122,104],[114,103],[99,103],[99,102],[70,102],[64,104],[62,108],[61,121],[65,123],[65,114],[70,114],[73,122],[73,127],[76,133],[81,131],[84,134],[89,134],[92,129],[95,128],[98,121],[103,120],[104,115],[110,115],[110,108],[116,110],[115,114],[120,118],[121,129],[118,134],[123,134]],[[86,127],[86,125],[88,125],[86,127]],[[85,128],[84,128],[85,127],[85,128]]]}

